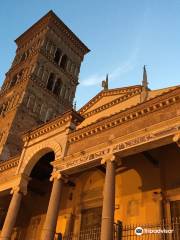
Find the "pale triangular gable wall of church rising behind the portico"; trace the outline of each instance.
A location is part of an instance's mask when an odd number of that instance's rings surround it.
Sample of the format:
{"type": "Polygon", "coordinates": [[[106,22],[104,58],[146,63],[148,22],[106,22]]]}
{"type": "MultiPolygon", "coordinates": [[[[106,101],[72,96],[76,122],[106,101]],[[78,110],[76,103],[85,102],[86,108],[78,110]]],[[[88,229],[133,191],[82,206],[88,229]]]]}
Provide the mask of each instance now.
{"type": "MultiPolygon", "coordinates": [[[[179,87],[180,86],[174,86],[158,90],[149,90],[146,101],[164,95],[179,87]]],[[[141,92],[141,85],[99,92],[79,110],[79,113],[85,120],[81,122],[77,129],[84,128],[104,118],[141,104],[141,92]]]]}

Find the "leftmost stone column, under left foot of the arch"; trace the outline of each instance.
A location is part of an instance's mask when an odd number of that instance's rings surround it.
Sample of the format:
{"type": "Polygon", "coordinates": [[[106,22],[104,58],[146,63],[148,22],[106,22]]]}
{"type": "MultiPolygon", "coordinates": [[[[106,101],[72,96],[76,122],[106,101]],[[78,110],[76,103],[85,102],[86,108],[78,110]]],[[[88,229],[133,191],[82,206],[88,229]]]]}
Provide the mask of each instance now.
{"type": "Polygon", "coordinates": [[[21,199],[23,196],[23,193],[21,192],[21,189],[19,187],[13,189],[11,191],[13,194],[8,212],[6,215],[6,219],[2,228],[0,240],[10,240],[11,234],[14,228],[14,225],[16,223],[16,218],[20,209],[21,199]]]}

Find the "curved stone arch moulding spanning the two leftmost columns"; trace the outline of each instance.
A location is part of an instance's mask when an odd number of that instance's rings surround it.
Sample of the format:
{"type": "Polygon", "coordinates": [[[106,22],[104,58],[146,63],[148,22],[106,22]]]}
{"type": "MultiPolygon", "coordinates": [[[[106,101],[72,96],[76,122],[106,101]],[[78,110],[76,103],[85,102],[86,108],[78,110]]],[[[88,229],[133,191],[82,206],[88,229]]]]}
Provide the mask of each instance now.
{"type": "MultiPolygon", "coordinates": [[[[55,159],[61,156],[62,148],[61,145],[55,141],[47,141],[45,143],[39,144],[33,148],[28,157],[25,156],[23,164],[19,168],[19,173],[24,173],[27,176],[30,176],[33,167],[39,161],[39,159],[44,156],[46,153],[53,151],[55,154],[55,159]]],[[[22,162],[23,159],[20,161],[22,162]]]]}

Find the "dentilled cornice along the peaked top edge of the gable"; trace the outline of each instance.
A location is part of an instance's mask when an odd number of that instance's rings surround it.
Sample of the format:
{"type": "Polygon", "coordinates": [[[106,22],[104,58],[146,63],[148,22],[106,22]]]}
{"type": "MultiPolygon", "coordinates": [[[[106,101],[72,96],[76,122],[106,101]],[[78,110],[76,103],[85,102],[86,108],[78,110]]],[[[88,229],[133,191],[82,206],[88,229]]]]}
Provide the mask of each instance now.
{"type": "Polygon", "coordinates": [[[83,115],[83,113],[88,110],[88,108],[92,107],[95,103],[97,103],[102,97],[106,96],[112,96],[112,95],[118,95],[118,94],[127,94],[132,93],[135,91],[142,90],[141,85],[135,85],[130,87],[123,87],[123,88],[117,88],[117,89],[109,89],[107,91],[101,91],[99,92],[95,97],[93,97],[89,102],[87,102],[78,112],[83,115]]]}

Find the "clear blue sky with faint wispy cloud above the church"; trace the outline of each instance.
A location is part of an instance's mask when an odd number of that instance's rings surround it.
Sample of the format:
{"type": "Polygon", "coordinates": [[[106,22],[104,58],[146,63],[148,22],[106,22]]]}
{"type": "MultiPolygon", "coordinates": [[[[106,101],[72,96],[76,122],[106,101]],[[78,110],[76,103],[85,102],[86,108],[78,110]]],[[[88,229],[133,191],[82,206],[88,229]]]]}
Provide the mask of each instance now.
{"type": "Polygon", "coordinates": [[[49,10],[91,50],[81,65],[78,108],[102,90],[142,82],[180,84],[180,0],[6,0],[0,5],[0,85],[15,56],[14,40],[49,10]]]}

